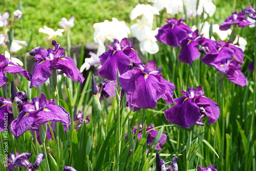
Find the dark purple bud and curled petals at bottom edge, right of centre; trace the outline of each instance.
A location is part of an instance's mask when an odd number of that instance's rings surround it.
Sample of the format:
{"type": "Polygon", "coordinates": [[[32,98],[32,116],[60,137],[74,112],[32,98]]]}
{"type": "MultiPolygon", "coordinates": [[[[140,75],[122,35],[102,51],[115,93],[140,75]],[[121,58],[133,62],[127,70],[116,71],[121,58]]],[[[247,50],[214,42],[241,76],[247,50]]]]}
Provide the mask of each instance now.
{"type": "Polygon", "coordinates": [[[165,167],[165,162],[160,158],[158,152],[156,153],[156,171],[178,171],[178,157],[175,156],[172,160],[172,163],[165,167]]]}

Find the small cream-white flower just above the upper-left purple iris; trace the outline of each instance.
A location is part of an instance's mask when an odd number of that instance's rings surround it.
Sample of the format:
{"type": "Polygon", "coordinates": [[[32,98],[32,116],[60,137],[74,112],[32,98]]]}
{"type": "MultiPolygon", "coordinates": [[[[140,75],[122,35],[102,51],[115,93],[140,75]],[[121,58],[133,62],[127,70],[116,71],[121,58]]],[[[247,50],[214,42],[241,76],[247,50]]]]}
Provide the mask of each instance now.
{"type": "Polygon", "coordinates": [[[57,29],[57,31],[54,31],[51,28],[48,28],[47,26],[44,27],[44,29],[39,28],[38,30],[41,33],[48,34],[48,36],[45,38],[48,42],[48,45],[51,46],[52,40],[55,40],[57,36],[62,36],[62,33],[65,31],[64,29],[57,29]]]}

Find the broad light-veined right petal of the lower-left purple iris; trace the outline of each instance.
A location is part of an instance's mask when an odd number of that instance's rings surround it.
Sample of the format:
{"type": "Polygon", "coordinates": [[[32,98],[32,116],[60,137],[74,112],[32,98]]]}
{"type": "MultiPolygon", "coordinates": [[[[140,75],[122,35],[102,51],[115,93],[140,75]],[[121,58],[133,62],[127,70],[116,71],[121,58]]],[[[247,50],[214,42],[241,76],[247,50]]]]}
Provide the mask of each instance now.
{"type": "Polygon", "coordinates": [[[62,122],[64,124],[70,123],[69,113],[59,105],[48,104],[46,108],[37,113],[34,123],[41,125],[49,121],[62,122]]]}

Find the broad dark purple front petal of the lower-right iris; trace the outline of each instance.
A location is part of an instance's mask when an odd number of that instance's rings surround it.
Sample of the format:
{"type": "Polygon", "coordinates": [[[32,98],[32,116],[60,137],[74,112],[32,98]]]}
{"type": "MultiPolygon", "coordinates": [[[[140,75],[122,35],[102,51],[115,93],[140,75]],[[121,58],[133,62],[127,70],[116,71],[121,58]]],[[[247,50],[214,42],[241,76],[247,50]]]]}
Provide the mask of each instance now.
{"type": "Polygon", "coordinates": [[[170,123],[186,128],[196,123],[200,117],[200,111],[193,99],[182,97],[177,104],[164,111],[164,116],[170,123]]]}

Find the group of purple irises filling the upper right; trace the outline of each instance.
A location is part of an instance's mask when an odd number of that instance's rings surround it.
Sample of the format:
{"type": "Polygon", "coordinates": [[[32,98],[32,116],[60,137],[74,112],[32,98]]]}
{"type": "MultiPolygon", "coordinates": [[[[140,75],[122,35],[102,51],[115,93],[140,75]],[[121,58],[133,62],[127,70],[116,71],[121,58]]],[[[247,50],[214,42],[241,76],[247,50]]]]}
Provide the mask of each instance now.
{"type": "MultiPolygon", "coordinates": [[[[255,24],[255,22],[249,22],[246,19],[245,13],[251,18],[256,18],[255,10],[252,6],[249,6],[238,14],[234,11],[220,26],[220,30],[227,30],[231,25],[235,24],[239,27],[255,24]]],[[[198,34],[198,30],[192,31],[184,22],[184,19],[169,18],[166,22],[167,24],[158,30],[158,34],[155,37],[166,45],[181,46],[178,56],[181,62],[192,65],[192,62],[201,56],[201,52],[204,54],[201,58],[203,63],[213,66],[217,71],[226,74],[229,81],[241,87],[246,86],[247,78],[240,71],[242,69],[240,63],[244,63],[243,51],[232,45],[230,40],[225,42],[205,38],[203,35],[198,34]]],[[[248,68],[250,71],[253,70],[251,66],[248,68]]]]}

